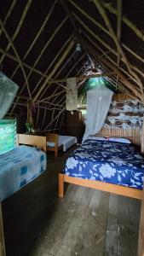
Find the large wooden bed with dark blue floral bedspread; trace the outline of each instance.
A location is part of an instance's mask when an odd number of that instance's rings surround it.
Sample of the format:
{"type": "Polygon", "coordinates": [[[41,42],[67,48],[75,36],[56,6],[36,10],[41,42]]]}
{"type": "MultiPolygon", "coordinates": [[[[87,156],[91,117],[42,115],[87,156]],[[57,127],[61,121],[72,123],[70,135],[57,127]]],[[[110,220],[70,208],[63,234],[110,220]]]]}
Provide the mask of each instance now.
{"type": "Polygon", "coordinates": [[[66,182],[141,199],[143,170],[144,158],[132,144],[89,138],[66,160],[59,195],[66,182]]]}

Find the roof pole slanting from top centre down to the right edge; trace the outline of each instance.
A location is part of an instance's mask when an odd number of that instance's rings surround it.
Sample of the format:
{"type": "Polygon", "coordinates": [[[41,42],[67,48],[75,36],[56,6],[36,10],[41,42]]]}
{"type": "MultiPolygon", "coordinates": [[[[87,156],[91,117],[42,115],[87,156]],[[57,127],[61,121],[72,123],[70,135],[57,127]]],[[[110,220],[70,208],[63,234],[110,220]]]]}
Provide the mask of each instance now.
{"type": "MultiPolygon", "coordinates": [[[[110,34],[110,32],[104,27],[101,26],[101,24],[99,22],[97,22],[94,18],[92,18],[91,16],[89,16],[84,9],[82,9],[81,7],[78,6],[77,3],[74,3],[74,1],[72,0],[68,0],[70,3],[72,3],[72,5],[75,7],[75,9],[78,9],[78,11],[84,15],[87,19],[89,19],[93,24],[95,24],[96,26],[98,26],[103,32],[106,32],[107,35],[109,35],[112,38],[112,35],[110,34]]],[[[127,51],[130,52],[131,55],[134,55],[135,58],[137,58],[139,61],[144,62],[144,59],[141,58],[140,55],[137,55],[132,49],[130,49],[127,45],[122,44],[122,46],[124,47],[124,49],[126,49],[127,51]]]]}

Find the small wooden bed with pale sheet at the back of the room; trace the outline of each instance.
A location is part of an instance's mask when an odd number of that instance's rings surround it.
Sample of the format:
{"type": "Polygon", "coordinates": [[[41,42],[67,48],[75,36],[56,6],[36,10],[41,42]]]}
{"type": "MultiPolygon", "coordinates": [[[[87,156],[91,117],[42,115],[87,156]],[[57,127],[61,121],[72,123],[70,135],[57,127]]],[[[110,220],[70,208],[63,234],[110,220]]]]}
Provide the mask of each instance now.
{"type": "Polygon", "coordinates": [[[63,136],[55,133],[48,133],[46,135],[47,150],[55,152],[55,160],[58,156],[58,151],[63,150],[66,152],[68,148],[71,148],[77,143],[77,137],[63,136]]]}

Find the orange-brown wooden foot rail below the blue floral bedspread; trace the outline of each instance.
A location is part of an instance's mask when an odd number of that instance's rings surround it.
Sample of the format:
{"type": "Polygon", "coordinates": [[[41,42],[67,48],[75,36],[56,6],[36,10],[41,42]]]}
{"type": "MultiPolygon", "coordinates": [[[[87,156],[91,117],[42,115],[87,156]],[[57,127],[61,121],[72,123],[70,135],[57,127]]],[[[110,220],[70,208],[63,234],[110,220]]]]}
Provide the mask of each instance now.
{"type": "Polygon", "coordinates": [[[70,177],[70,176],[67,176],[66,174],[60,174],[60,175],[64,175],[64,182],[66,183],[72,183],[72,184],[84,186],[91,189],[99,189],[99,190],[110,192],[116,195],[124,195],[124,196],[142,200],[142,190],[140,189],[132,189],[129,187],[115,185],[112,183],[103,183],[103,182],[93,181],[89,179],[70,177]]]}

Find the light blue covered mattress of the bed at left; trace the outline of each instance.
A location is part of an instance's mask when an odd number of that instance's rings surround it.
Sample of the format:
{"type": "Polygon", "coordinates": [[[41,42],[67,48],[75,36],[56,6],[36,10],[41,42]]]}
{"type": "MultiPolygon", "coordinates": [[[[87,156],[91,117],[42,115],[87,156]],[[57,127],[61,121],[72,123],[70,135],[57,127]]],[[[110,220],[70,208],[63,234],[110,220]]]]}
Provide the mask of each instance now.
{"type": "Polygon", "coordinates": [[[46,154],[27,146],[0,155],[0,201],[14,194],[46,170],[46,154]]]}

